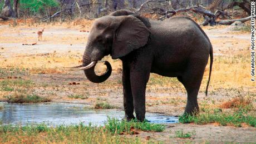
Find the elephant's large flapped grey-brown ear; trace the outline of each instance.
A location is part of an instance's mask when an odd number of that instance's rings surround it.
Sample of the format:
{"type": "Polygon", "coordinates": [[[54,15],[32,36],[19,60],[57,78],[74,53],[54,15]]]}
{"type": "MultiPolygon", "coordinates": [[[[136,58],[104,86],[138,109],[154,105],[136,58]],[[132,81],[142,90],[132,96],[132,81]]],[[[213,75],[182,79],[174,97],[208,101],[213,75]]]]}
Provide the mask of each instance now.
{"type": "Polygon", "coordinates": [[[145,46],[150,31],[140,19],[133,16],[120,16],[121,22],[116,29],[112,44],[112,58],[117,59],[135,49],[145,46]]]}

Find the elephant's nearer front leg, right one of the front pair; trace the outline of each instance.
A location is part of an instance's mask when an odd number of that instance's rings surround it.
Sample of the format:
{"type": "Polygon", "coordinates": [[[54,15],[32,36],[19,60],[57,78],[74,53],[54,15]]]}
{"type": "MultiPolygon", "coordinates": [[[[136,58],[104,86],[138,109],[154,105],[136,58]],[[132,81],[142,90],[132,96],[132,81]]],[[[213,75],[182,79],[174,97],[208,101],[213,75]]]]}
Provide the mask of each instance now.
{"type": "Polygon", "coordinates": [[[138,68],[136,71],[131,72],[130,75],[136,118],[139,121],[144,121],[146,113],[145,92],[146,84],[150,76],[150,70],[147,71],[147,68],[138,68]]]}

